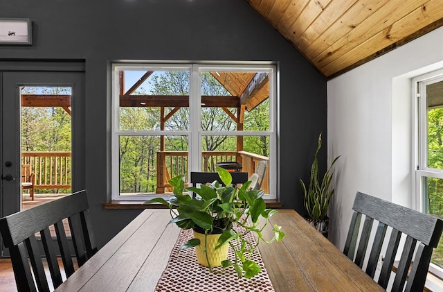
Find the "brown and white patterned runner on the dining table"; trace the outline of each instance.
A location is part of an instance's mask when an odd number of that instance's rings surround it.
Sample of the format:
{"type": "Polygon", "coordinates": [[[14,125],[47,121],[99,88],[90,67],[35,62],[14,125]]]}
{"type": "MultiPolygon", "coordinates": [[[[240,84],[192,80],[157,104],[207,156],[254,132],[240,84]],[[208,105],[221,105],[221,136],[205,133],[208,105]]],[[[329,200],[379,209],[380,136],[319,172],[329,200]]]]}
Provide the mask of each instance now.
{"type": "MultiPolygon", "coordinates": [[[[260,252],[252,256],[252,260],[260,265],[261,272],[252,279],[244,277],[238,279],[234,267],[230,266],[223,270],[221,267],[213,268],[213,273],[205,266],[197,263],[195,248],[179,250],[179,247],[194,237],[192,229],[181,230],[179,239],[171,252],[168,266],[166,266],[159,282],[156,285],[157,292],[192,292],[192,291],[224,291],[224,292],[273,292],[273,286],[269,275],[264,268],[260,252]]],[[[247,234],[247,240],[255,242],[253,234],[247,234]]],[[[234,252],[229,247],[228,259],[234,260],[234,252]]]]}

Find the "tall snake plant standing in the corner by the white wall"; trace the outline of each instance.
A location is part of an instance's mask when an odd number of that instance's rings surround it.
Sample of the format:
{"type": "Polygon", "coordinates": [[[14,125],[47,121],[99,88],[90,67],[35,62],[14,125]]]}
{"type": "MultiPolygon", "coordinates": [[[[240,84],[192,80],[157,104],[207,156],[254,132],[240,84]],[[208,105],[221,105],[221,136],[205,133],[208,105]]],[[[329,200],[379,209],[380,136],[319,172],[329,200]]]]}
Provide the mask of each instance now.
{"type": "Polygon", "coordinates": [[[332,163],[327,168],[325,175],[323,175],[320,181],[320,173],[318,171],[318,159],[317,155],[321,148],[321,132],[318,136],[318,144],[316,152],[314,153],[314,161],[311,165],[311,175],[309,178],[309,186],[307,187],[305,182],[300,179],[300,184],[302,187],[303,194],[305,195],[305,209],[307,214],[305,219],[320,231],[325,237],[327,237],[327,232],[329,228],[329,217],[327,216],[327,209],[329,207],[329,200],[334,194],[334,188],[331,186],[331,181],[334,176],[334,171],[332,171],[332,166],[338,160],[335,157],[332,163]]]}

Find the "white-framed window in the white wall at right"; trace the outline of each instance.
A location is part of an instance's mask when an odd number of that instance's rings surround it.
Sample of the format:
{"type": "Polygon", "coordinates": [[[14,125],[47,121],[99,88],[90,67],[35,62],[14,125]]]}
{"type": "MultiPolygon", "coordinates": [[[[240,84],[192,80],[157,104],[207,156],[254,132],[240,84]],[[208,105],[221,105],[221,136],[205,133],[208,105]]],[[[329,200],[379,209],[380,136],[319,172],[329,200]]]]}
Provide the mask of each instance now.
{"type": "MultiPolygon", "coordinates": [[[[413,79],[415,108],[415,205],[443,219],[443,70],[413,79]]],[[[443,239],[433,252],[431,268],[443,269],[443,239]]]]}

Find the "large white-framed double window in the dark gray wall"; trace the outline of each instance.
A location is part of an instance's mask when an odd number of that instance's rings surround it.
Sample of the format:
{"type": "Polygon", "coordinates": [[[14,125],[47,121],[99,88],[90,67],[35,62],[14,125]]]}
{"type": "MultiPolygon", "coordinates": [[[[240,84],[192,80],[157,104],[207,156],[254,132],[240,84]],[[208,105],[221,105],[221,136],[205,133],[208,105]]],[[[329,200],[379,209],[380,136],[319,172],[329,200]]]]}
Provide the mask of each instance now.
{"type": "Polygon", "coordinates": [[[114,64],[112,199],[168,197],[168,180],[267,160],[262,189],[276,190],[273,65],[114,64]]]}

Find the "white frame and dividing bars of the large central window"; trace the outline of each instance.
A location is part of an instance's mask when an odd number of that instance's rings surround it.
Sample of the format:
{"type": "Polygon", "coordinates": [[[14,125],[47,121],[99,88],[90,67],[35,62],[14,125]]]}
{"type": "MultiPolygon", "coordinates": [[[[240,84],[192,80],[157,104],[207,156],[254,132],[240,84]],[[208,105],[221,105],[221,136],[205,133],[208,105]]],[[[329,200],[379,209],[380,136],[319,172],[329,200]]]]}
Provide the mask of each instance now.
{"type": "Polygon", "coordinates": [[[188,177],[190,171],[199,171],[201,169],[201,139],[205,135],[228,135],[228,136],[269,136],[269,193],[266,195],[268,199],[277,198],[277,165],[278,165],[278,92],[277,66],[273,62],[114,62],[111,64],[111,199],[112,200],[147,200],[154,197],[169,198],[168,194],[149,194],[146,196],[120,196],[120,173],[119,173],[119,137],[121,135],[134,136],[153,136],[153,135],[187,135],[188,136],[188,177]],[[170,130],[120,130],[119,123],[119,80],[118,71],[120,70],[152,70],[159,71],[190,71],[190,127],[187,131],[170,131],[170,130]],[[201,122],[201,72],[203,71],[251,71],[268,72],[269,73],[269,130],[268,131],[251,131],[251,130],[235,130],[210,132],[203,131],[200,127],[201,122]]]}

